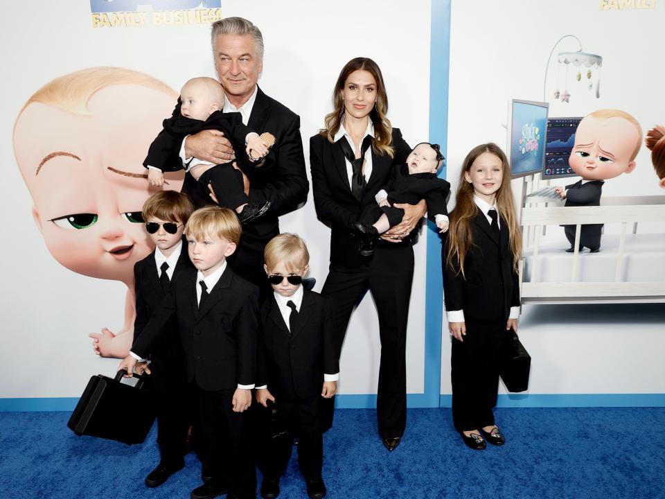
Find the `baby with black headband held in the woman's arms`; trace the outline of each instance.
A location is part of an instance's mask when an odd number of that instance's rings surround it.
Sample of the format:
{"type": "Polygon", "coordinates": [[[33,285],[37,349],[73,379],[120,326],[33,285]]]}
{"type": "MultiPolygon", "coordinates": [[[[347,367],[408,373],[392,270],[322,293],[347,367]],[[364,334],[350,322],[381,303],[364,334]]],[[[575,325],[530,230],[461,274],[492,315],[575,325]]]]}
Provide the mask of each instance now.
{"type": "Polygon", "coordinates": [[[417,204],[424,199],[429,219],[436,223],[439,232],[447,231],[446,202],[450,184],[436,176],[443,159],[438,144],[421,142],[411,151],[407,157],[407,168],[398,170],[390,192],[381,189],[376,193],[377,206],[366,209],[353,224],[355,234],[360,237],[358,252],[361,256],[371,256],[374,240],[402,222],[404,210],[394,207],[396,203],[417,204]]]}

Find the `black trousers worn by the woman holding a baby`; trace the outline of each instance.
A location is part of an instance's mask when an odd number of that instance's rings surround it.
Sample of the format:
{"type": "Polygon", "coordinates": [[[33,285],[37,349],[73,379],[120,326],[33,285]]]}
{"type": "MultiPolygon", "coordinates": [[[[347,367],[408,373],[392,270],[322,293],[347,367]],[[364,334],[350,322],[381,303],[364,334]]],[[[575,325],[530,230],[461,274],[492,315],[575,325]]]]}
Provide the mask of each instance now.
{"type": "MultiPolygon", "coordinates": [[[[382,438],[401,437],[407,424],[407,320],[413,278],[413,247],[380,241],[372,259],[360,267],[331,263],[321,290],[321,295],[332,297],[335,307],[339,351],[353,308],[368,289],[372,293],[381,340],[376,410],[382,438]]],[[[362,331],[355,334],[362,334],[362,331]]],[[[332,403],[323,418],[323,429],[330,426],[332,403]]]]}

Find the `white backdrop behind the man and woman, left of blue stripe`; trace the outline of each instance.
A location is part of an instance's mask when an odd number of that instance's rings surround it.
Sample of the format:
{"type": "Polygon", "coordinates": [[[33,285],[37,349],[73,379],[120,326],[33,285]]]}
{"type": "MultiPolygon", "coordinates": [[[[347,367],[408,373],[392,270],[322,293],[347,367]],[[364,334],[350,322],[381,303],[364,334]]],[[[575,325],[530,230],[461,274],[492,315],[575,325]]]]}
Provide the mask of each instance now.
{"type": "MultiPolygon", "coordinates": [[[[139,2],[140,3],[140,2],[139,2]]],[[[150,2],[145,2],[150,3],[150,2]]],[[[91,374],[111,374],[118,360],[94,356],[88,333],[123,325],[125,286],[62,267],[37,230],[33,201],[12,154],[12,128],[34,91],[53,78],[96,66],[142,71],[178,91],[188,78],[215,76],[209,25],[94,28],[90,3],[39,1],[6,6],[12,19],[0,33],[8,69],[0,83],[6,100],[0,120],[0,155],[5,177],[0,207],[6,213],[0,314],[0,398],[79,396],[91,374]],[[35,16],[34,12],[39,15],[35,16]]],[[[428,1],[341,0],[334,5],[286,0],[280,3],[224,0],[224,17],[251,19],[263,31],[265,57],[260,87],[301,116],[308,139],[329,112],[332,87],[345,62],[373,58],[389,91],[389,117],[410,143],[427,139],[429,105],[428,1]],[[405,19],[418,29],[405,28],[405,19]],[[380,26],[378,33],[366,26],[380,26]],[[414,74],[418,75],[414,77],[414,74]]],[[[175,104],[175,101],[174,101],[175,104]]],[[[163,110],[166,117],[171,110],[163,110]]],[[[127,110],[132,112],[132,110],[127,110]]],[[[159,123],[155,125],[159,130],[159,123]]],[[[148,143],[145,147],[148,147],[148,143]]],[[[308,162],[308,161],[307,161],[308,162]]],[[[308,175],[309,175],[309,164],[308,175]]],[[[312,195],[303,209],[281,219],[283,231],[307,240],[311,275],[320,290],[327,274],[329,231],[316,218],[312,195]]],[[[416,246],[416,273],[408,331],[408,391],[423,392],[425,239],[416,246]]],[[[367,295],[353,315],[342,355],[343,394],[373,394],[378,377],[378,321],[367,295]]]]}

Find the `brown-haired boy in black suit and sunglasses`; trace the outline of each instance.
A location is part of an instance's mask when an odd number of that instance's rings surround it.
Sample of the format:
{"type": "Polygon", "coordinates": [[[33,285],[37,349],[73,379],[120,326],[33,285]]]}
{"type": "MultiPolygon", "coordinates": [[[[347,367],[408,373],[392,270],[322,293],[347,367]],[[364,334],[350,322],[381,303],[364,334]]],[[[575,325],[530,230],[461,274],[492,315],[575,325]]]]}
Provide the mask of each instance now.
{"type": "MultiPolygon", "coordinates": [[[[145,229],[155,245],[154,252],[134,265],[136,289],[136,319],[134,338],[148,324],[148,319],[161,304],[171,287],[171,281],[186,268],[192,268],[183,243],[182,232],[194,207],[186,194],[159,191],[143,204],[145,229]]],[[[184,452],[188,418],[184,407],[185,383],[182,381],[182,362],[178,355],[177,329],[170,324],[164,340],[150,354],[150,367],[141,362],[136,372],[152,374],[152,387],[157,400],[157,444],[161,459],[145,477],[145,485],[159,487],[185,465],[184,452]]]]}

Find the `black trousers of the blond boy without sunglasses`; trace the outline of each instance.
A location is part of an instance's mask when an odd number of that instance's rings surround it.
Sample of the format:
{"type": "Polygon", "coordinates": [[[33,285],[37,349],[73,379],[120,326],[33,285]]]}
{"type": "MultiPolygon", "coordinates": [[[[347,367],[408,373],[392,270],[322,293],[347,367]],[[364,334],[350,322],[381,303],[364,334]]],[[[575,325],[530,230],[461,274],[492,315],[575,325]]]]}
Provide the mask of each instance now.
{"type": "MultiPolygon", "coordinates": [[[[235,389],[204,390],[190,383],[197,399],[204,464],[212,480],[229,484],[229,494],[256,498],[256,468],[249,440],[246,412],[233,412],[235,389]]],[[[198,429],[198,428],[197,428],[198,429]]]]}

